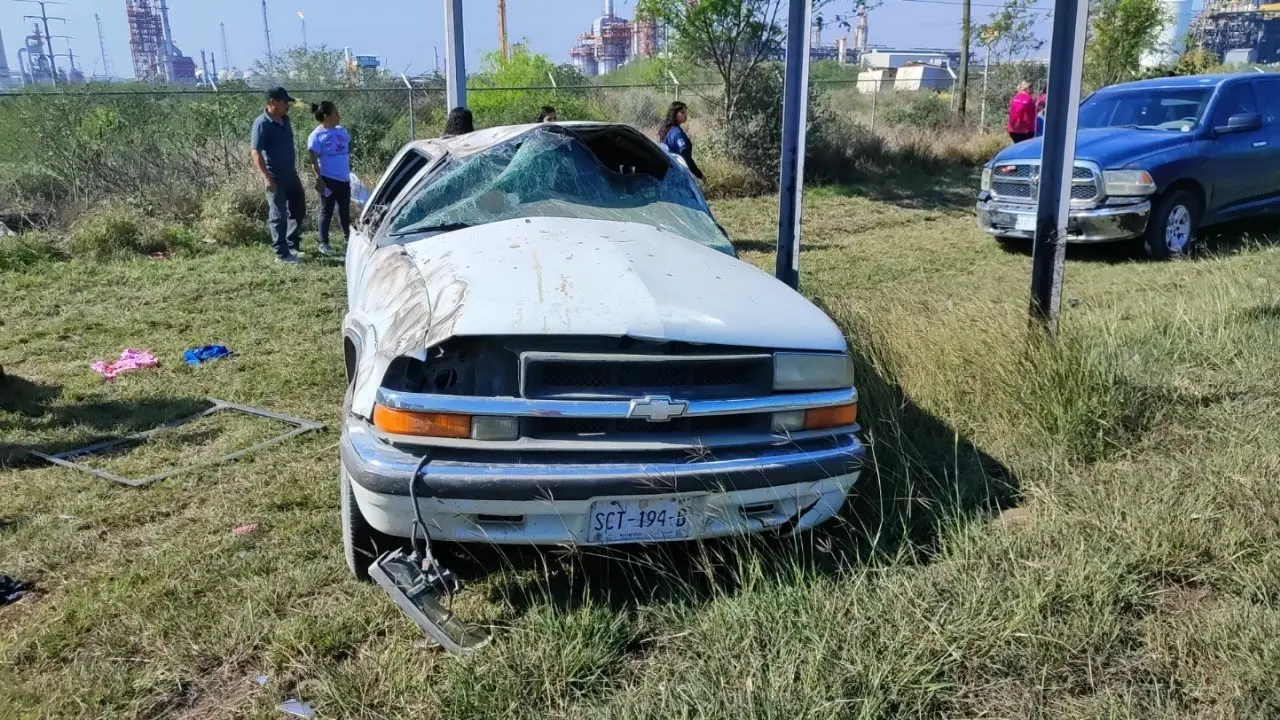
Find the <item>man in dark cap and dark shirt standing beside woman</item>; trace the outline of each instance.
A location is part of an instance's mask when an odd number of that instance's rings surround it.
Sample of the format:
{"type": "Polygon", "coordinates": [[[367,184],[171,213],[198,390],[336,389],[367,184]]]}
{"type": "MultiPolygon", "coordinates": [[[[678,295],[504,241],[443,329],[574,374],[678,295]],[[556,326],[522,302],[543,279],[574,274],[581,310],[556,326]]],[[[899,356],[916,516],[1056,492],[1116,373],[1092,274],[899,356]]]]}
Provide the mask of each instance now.
{"type": "Polygon", "coordinates": [[[283,87],[266,91],[266,110],[253,120],[253,167],[262,174],[270,208],[268,224],[271,245],[280,263],[297,264],[302,218],[307,214],[302,181],[298,179],[289,105],[296,102],[283,87]]]}

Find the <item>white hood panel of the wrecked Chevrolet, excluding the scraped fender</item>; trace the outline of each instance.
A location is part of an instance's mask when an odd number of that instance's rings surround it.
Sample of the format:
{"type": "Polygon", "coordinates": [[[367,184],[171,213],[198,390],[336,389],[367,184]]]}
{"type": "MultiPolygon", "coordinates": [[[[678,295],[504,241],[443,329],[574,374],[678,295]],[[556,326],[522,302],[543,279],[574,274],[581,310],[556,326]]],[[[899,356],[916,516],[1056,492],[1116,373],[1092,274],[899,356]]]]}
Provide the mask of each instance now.
{"type": "Polygon", "coordinates": [[[836,324],[772,275],[652,225],[515,219],[420,240],[404,251],[426,281],[424,304],[453,288],[445,293],[456,304],[451,336],[845,350],[836,324]]]}

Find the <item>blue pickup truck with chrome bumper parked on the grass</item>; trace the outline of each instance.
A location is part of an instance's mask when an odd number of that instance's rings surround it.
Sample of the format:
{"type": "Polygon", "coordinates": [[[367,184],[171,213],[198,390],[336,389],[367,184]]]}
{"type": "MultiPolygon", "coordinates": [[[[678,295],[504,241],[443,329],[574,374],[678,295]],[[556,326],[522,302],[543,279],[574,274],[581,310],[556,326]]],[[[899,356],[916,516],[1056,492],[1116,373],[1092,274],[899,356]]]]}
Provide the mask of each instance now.
{"type": "MultiPolygon", "coordinates": [[[[1032,238],[1041,140],[983,168],[978,227],[1032,238]]],[[[1080,105],[1068,242],[1140,240],[1185,254],[1206,225],[1280,209],[1280,73],[1190,76],[1102,88],[1080,105]]]]}

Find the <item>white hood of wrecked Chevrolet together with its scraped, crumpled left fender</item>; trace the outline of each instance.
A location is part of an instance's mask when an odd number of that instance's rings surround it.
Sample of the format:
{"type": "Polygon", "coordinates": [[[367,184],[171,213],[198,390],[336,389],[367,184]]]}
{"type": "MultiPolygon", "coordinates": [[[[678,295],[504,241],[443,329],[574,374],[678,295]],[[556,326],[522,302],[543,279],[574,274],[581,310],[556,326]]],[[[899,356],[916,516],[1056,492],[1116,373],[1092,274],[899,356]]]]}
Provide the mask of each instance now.
{"type": "Polygon", "coordinates": [[[460,336],[604,336],[844,351],[822,310],[772,275],[640,223],[529,218],[378,249],[349,278],[349,409],[370,418],[396,357],[460,336]]]}

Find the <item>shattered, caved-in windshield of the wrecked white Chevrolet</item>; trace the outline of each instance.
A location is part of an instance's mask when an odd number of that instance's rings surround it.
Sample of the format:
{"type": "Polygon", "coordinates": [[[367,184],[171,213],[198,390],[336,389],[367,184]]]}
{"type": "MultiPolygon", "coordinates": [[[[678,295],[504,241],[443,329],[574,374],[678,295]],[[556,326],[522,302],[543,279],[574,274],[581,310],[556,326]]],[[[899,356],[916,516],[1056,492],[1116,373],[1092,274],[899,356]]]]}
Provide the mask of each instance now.
{"type": "Polygon", "coordinates": [[[516,218],[643,223],[721,252],[733,247],[681,172],[605,168],[579,137],[535,131],[449,160],[392,220],[396,236],[516,218]]]}

